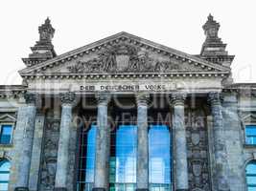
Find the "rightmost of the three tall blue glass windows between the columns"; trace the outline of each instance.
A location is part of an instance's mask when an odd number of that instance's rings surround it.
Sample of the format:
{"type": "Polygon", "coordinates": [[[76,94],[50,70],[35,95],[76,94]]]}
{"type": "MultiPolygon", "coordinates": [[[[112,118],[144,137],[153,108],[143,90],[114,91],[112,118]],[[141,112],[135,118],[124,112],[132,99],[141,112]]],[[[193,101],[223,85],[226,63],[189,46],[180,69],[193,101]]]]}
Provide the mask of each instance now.
{"type": "Polygon", "coordinates": [[[150,190],[172,190],[171,136],[167,125],[149,131],[150,190]]]}

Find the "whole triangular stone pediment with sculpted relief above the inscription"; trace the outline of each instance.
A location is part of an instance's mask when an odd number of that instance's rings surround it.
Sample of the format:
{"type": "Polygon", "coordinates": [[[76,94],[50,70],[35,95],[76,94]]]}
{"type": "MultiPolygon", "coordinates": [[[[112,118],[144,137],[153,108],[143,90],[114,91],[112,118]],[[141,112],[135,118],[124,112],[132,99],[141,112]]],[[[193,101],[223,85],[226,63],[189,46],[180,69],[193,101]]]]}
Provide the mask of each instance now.
{"type": "Polygon", "coordinates": [[[26,75],[229,74],[230,69],[149,40],[120,32],[28,67],[26,75]]]}

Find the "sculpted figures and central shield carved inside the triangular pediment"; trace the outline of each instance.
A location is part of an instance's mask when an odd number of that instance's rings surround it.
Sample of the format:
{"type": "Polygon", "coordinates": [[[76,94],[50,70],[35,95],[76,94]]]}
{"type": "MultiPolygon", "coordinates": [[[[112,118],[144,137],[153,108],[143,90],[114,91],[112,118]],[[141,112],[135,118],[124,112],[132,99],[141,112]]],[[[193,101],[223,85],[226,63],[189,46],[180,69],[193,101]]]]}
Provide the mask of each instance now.
{"type": "Polygon", "coordinates": [[[191,71],[194,68],[183,62],[166,57],[166,61],[151,58],[148,52],[128,45],[108,46],[98,56],[90,60],[79,60],[67,67],[73,74],[117,73],[117,72],[171,72],[177,70],[191,71]]]}

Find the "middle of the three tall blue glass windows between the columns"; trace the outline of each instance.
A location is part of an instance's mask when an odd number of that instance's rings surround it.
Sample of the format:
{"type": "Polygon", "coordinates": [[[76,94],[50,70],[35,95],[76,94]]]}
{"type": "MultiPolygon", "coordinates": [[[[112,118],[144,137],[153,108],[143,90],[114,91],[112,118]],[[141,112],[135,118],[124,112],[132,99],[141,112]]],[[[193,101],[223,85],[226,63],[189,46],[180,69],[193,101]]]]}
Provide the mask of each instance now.
{"type": "Polygon", "coordinates": [[[111,134],[110,191],[133,191],[136,187],[137,127],[120,125],[111,134]]]}

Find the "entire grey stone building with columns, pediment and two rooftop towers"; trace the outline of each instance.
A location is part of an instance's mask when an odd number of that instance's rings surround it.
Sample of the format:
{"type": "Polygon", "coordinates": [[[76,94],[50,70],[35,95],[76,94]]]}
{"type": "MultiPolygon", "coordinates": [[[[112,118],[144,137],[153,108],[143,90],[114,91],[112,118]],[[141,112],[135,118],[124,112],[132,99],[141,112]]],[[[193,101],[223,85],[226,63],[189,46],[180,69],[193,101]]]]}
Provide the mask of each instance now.
{"type": "Polygon", "coordinates": [[[0,86],[0,190],[256,191],[256,83],[219,28],[198,54],[120,32],[58,55],[47,18],[0,86]]]}

